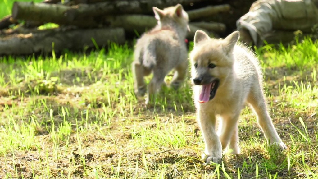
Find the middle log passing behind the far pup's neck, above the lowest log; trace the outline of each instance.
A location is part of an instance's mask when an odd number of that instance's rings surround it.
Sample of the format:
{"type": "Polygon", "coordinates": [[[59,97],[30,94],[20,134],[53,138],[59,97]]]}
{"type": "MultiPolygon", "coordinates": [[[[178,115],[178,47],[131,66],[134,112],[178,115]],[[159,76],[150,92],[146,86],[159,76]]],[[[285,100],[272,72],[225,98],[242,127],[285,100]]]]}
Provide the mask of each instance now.
{"type": "MultiPolygon", "coordinates": [[[[127,32],[135,32],[137,31],[139,34],[145,32],[145,30],[149,30],[156,26],[157,20],[153,16],[146,15],[121,15],[121,16],[112,16],[107,17],[106,21],[109,23],[111,27],[122,27],[127,32]]],[[[200,29],[207,33],[211,33],[207,29],[202,27],[197,27],[195,25],[189,24],[190,32],[188,32],[187,38],[193,39],[194,33],[200,29]]]]}

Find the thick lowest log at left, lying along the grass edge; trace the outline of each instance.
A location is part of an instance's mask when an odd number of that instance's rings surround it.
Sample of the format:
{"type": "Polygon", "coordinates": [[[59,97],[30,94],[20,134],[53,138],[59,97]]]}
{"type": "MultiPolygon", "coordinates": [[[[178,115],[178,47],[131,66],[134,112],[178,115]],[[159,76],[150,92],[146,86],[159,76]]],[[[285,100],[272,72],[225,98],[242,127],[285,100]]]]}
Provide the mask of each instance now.
{"type": "Polygon", "coordinates": [[[52,52],[53,42],[55,52],[62,52],[64,49],[82,50],[86,46],[95,47],[92,38],[100,47],[108,41],[123,44],[125,32],[122,28],[100,28],[68,31],[50,29],[37,33],[18,34],[0,39],[0,55],[49,53],[52,52]]]}

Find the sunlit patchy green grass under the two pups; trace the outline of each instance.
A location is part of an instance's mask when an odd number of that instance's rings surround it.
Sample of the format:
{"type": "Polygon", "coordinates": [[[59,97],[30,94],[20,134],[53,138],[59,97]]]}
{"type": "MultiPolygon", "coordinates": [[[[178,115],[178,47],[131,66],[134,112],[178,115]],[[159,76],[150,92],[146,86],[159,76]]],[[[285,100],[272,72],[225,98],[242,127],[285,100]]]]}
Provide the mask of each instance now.
{"type": "Polygon", "coordinates": [[[127,45],[1,57],[0,176],[318,178],[317,48],[317,41],[304,39],[257,50],[270,114],[288,148],[277,153],[268,147],[246,108],[239,121],[241,154],[225,154],[221,165],[200,159],[204,142],[189,78],[145,107],[133,92],[127,45]]]}

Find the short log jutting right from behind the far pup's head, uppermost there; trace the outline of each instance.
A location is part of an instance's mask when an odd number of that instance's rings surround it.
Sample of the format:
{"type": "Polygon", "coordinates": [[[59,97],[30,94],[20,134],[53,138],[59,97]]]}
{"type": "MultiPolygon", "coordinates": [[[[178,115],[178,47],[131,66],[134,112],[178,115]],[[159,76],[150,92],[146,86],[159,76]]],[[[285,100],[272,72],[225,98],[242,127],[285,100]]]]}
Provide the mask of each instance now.
{"type": "Polygon", "coordinates": [[[187,11],[187,13],[189,15],[189,19],[194,20],[200,18],[202,19],[204,17],[210,17],[220,12],[228,12],[230,11],[230,8],[231,7],[229,4],[224,4],[217,6],[207,6],[204,8],[187,11]]]}

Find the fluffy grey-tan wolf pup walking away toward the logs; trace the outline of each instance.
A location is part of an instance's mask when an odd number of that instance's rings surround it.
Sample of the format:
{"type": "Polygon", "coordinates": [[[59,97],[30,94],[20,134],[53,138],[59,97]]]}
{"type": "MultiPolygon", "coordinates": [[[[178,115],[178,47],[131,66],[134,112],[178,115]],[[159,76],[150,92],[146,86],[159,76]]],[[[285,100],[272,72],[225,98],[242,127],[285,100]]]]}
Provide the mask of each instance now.
{"type": "Polygon", "coordinates": [[[189,30],[188,14],[181,4],[163,10],[153,7],[153,10],[158,25],[137,40],[132,64],[136,95],[143,96],[146,93],[144,76],[153,72],[146,104],[161,88],[165,76],[173,68],[176,69],[171,82],[173,88],[181,85],[188,69],[188,53],[184,42],[189,30]]]}

